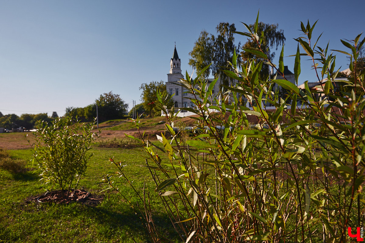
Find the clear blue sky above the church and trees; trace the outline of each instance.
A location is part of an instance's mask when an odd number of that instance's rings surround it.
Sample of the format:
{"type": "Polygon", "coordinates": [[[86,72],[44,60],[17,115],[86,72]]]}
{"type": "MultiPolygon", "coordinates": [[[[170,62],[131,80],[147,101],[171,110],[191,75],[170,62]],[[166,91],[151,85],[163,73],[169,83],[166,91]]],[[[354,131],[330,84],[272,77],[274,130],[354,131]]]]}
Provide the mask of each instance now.
{"type": "MultiPolygon", "coordinates": [[[[64,115],[109,91],[131,109],[142,83],[167,81],[174,42],[183,73],[191,73],[189,52],[202,30],[216,35],[228,22],[246,31],[240,22],[254,23],[259,9],[259,21],[284,30],[285,56],[296,52],[300,21],[318,20],[313,39],[323,32],[322,48],[345,50],[340,39],[365,30],[364,0],[0,0],[0,111],[64,115]]],[[[291,71],[293,62],[284,58],[291,71]]],[[[338,54],[336,64],[343,70],[348,60],[338,54]]],[[[316,80],[310,66],[302,57],[299,84],[316,80]]]]}

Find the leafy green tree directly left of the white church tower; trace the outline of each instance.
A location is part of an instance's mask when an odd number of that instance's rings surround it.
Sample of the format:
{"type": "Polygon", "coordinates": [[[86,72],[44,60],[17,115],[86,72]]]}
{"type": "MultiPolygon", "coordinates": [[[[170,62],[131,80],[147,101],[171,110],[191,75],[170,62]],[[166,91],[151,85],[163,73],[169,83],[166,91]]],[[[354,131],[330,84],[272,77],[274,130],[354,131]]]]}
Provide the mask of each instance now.
{"type": "MultiPolygon", "coordinates": [[[[164,81],[152,81],[150,83],[142,83],[139,90],[142,90],[141,101],[143,107],[145,107],[146,112],[150,117],[154,116],[156,113],[161,112],[155,105],[155,101],[157,101],[157,91],[166,92],[166,85],[164,81]]],[[[173,102],[170,100],[168,103],[169,107],[173,106],[173,102]]]]}

